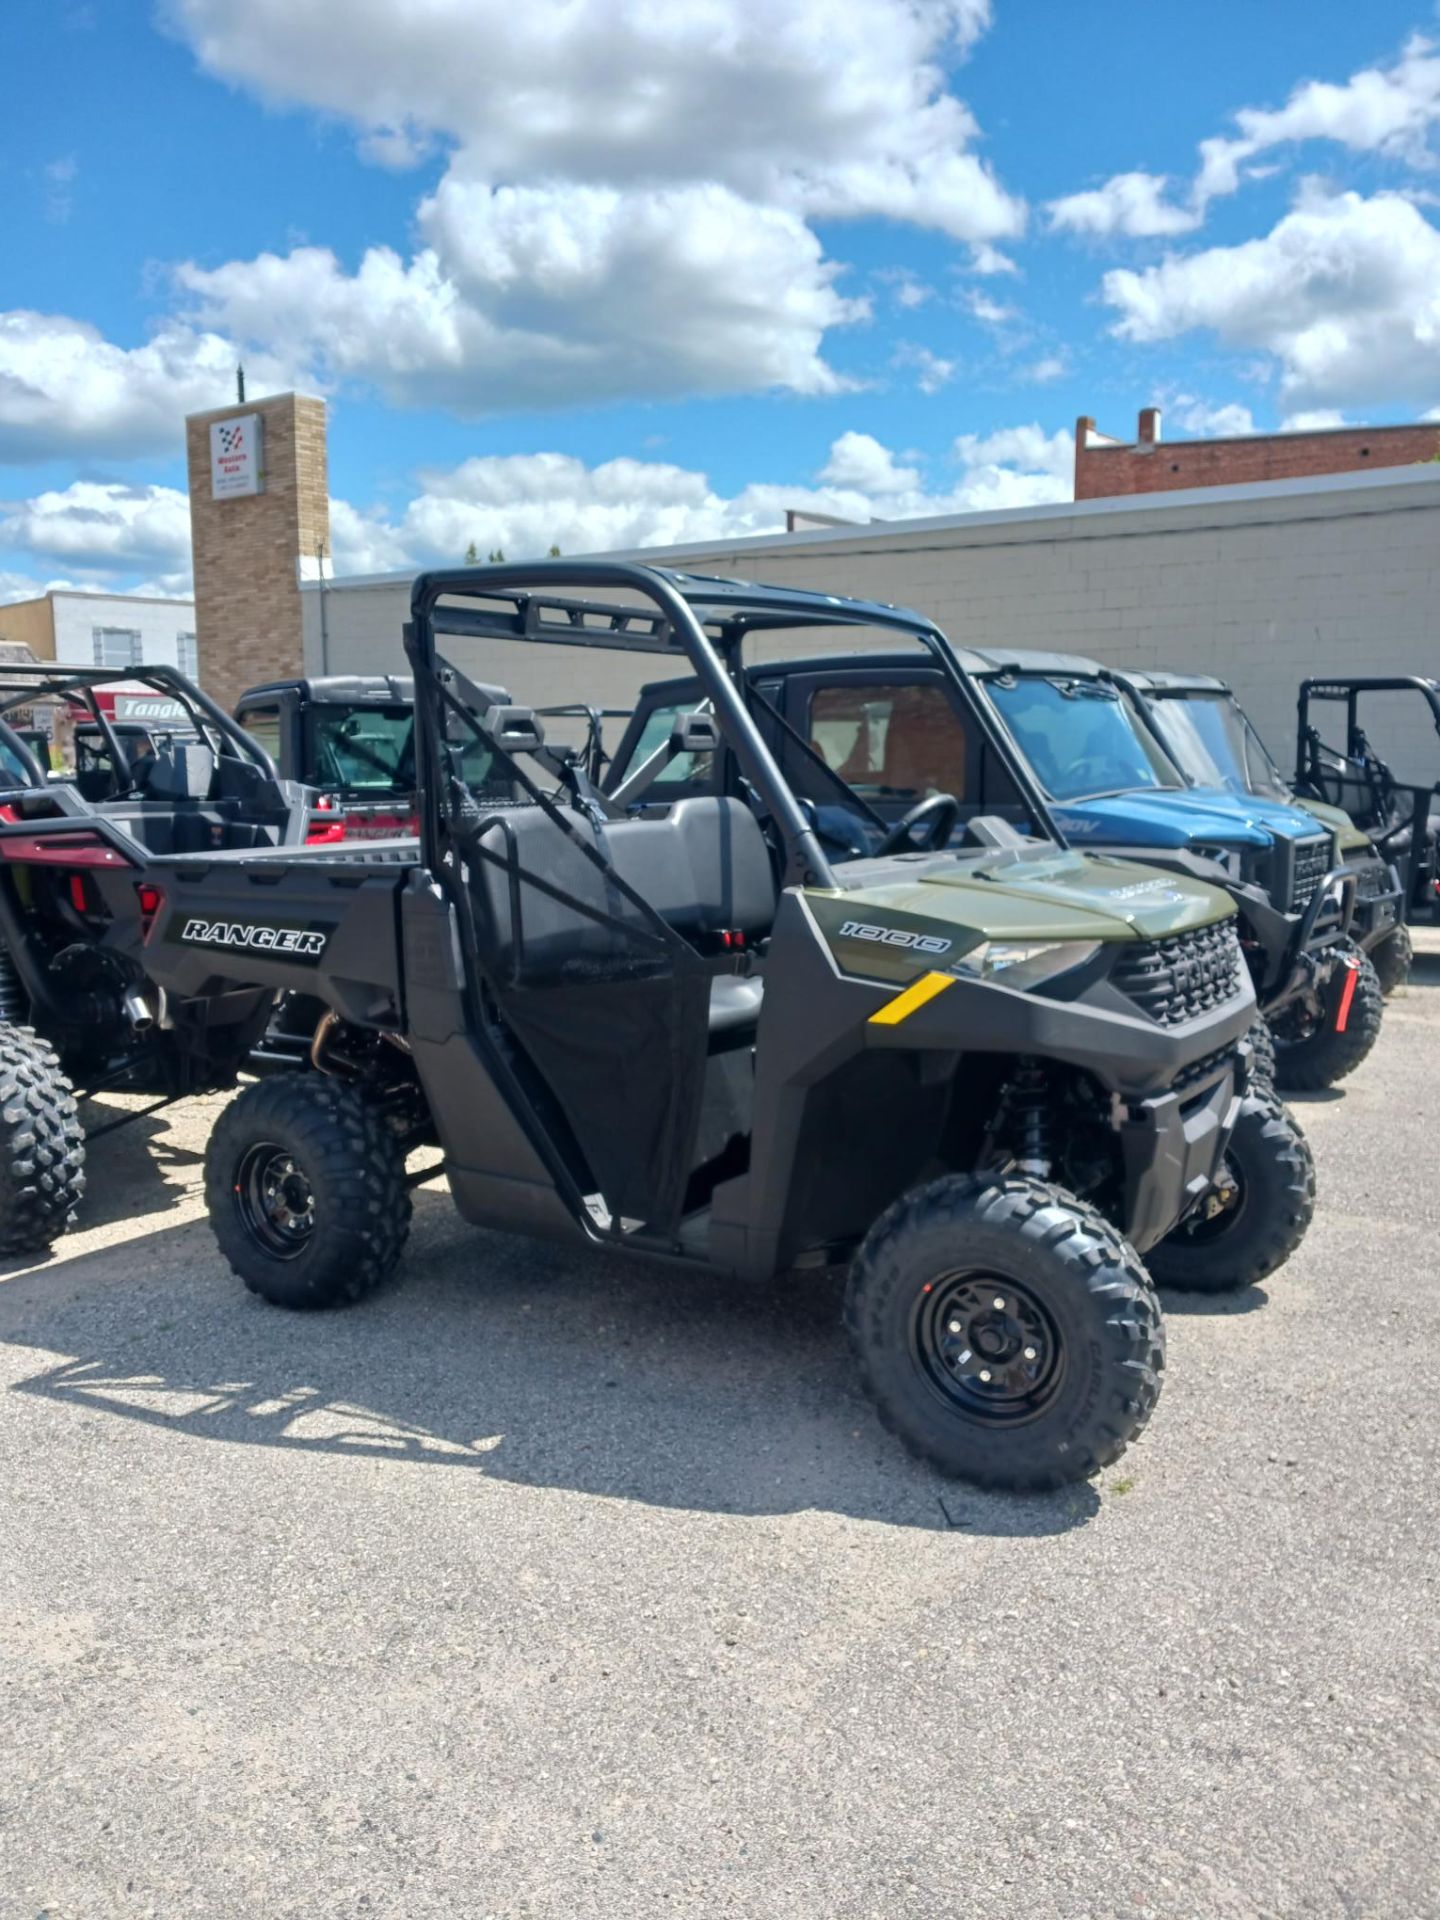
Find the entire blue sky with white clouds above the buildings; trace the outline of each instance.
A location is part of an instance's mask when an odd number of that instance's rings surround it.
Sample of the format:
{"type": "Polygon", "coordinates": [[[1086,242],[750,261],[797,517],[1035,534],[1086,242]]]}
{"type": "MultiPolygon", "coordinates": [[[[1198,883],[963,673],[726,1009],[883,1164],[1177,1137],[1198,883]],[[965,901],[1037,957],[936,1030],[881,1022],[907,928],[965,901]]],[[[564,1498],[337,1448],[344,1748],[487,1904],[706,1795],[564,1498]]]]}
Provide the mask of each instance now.
{"type": "Polygon", "coordinates": [[[8,0],[0,597],[188,578],[330,401],[340,572],[1068,493],[1440,407],[1440,23],[1334,0],[8,0]],[[420,17],[417,25],[417,17],[420,17]]]}

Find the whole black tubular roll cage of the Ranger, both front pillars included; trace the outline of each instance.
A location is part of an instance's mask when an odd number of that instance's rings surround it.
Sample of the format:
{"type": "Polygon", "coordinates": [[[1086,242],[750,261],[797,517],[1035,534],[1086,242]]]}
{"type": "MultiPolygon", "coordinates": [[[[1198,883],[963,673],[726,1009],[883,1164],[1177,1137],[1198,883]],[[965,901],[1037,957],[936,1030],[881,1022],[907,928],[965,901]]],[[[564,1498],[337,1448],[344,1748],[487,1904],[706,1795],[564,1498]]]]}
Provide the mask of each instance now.
{"type": "Polygon", "coordinates": [[[436,636],[451,634],[465,639],[530,639],[563,647],[682,655],[710,701],[741,774],[776,822],[783,841],[785,881],[841,891],[816,829],[785,781],[737,685],[739,649],[747,634],[804,626],[887,628],[920,641],[973,714],[985,741],[1029,803],[1037,824],[1056,845],[1068,845],[1039,783],[985,703],[968,685],[950,643],[924,614],[877,601],[678,574],[630,561],[540,561],[528,566],[507,563],[484,568],[440,568],[420,574],[411,589],[405,653],[417,693],[420,847],[426,866],[436,870],[442,856],[438,778],[442,703],[432,695],[444,662],[436,651],[436,636]],[[649,607],[574,599],[564,589],[582,595],[622,589],[641,595],[649,607]],[[470,605],[442,605],[444,601],[470,605]],[[478,607],[474,605],[478,601],[492,605],[478,607]],[[716,628],[714,637],[707,632],[710,626],[716,628]],[[430,697],[420,697],[422,687],[430,697]]]}

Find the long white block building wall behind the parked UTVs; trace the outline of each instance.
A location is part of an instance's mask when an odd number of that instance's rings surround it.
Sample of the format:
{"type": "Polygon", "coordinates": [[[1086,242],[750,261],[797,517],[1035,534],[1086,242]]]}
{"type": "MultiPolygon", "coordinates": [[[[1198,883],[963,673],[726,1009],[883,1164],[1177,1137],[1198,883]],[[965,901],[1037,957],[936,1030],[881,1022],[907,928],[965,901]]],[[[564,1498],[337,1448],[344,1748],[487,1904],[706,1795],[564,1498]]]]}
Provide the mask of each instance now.
{"type": "MultiPolygon", "coordinates": [[[[962,645],[1046,647],[1116,666],[1217,674],[1284,768],[1304,676],[1440,676],[1434,465],[624,557],[899,601],[962,645]]],[[[319,670],[317,599],[309,588],[311,672],[319,670]]],[[[326,601],[332,672],[403,670],[407,580],[338,582],[326,601]]],[[[453,655],[482,676],[516,676],[516,647],[457,645],[453,655]]],[[[532,705],[620,701],[636,678],[636,664],[614,655],[543,649],[526,659],[530,684],[511,691],[532,705]]],[[[639,678],[664,672],[639,668],[639,678]]],[[[1375,720],[1373,737],[1392,749],[1398,774],[1440,774],[1440,739],[1419,701],[1377,708],[1375,720]]]]}

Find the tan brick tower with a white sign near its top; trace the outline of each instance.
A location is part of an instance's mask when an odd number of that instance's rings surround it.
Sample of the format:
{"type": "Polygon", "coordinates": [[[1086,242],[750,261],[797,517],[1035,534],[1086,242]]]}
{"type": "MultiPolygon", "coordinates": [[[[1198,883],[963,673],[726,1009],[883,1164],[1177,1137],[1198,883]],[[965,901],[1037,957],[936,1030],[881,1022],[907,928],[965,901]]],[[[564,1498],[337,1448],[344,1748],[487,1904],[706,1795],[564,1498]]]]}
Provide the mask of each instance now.
{"type": "Polygon", "coordinates": [[[324,401],[309,394],[184,422],[200,682],[232,707],[257,680],[303,672],[300,566],[330,553],[324,401]]]}

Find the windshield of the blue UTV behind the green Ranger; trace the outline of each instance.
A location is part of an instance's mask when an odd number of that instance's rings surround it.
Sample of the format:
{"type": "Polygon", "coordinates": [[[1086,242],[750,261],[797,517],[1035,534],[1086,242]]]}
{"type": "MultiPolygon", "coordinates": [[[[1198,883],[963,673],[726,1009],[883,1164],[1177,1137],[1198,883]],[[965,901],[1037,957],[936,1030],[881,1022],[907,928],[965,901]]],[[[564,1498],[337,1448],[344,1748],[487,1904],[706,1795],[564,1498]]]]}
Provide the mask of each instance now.
{"type": "Polygon", "coordinates": [[[1183,785],[1142,722],[1100,680],[1006,674],[987,680],[985,691],[1056,801],[1183,785]]]}

